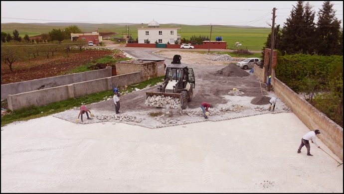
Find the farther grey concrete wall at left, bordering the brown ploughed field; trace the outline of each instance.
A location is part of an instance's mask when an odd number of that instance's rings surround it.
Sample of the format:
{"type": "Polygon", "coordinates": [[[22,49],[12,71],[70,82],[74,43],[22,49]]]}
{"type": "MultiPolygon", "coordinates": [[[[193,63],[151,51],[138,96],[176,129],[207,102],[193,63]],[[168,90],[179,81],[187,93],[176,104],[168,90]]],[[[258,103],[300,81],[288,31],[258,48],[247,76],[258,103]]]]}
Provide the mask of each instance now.
{"type": "Polygon", "coordinates": [[[31,81],[16,82],[11,84],[1,85],[1,99],[7,98],[7,95],[14,95],[19,93],[31,92],[58,86],[64,86],[77,82],[85,82],[89,80],[96,80],[100,78],[107,78],[112,76],[112,68],[107,67],[102,70],[95,70],[89,72],[75,73],[64,76],[55,76],[50,78],[43,78],[31,81]]]}

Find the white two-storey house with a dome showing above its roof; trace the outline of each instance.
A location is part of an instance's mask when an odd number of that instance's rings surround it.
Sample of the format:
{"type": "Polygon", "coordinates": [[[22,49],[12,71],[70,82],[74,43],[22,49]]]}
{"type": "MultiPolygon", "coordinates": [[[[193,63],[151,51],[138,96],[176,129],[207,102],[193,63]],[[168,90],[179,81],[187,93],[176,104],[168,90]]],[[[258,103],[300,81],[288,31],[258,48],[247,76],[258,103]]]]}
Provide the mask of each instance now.
{"type": "Polygon", "coordinates": [[[148,24],[148,28],[138,28],[138,43],[146,43],[148,40],[151,44],[158,43],[174,44],[175,40],[180,42],[180,34],[177,34],[177,30],[180,28],[160,28],[160,25],[156,21],[151,21],[148,24]]]}

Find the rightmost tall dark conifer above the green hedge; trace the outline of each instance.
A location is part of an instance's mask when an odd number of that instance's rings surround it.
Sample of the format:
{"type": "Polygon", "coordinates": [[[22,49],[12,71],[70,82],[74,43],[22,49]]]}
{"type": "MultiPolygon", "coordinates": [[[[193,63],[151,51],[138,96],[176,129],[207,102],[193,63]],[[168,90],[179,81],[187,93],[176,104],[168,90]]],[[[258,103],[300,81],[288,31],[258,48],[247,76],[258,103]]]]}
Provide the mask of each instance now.
{"type": "MultiPolygon", "coordinates": [[[[331,1],[324,1],[322,9],[318,12],[319,19],[316,34],[318,35],[319,40],[317,45],[319,55],[330,56],[339,54],[341,51],[341,21],[336,17],[336,10],[332,8],[333,5],[334,4],[332,4],[331,1]]],[[[341,55],[343,55],[343,49],[341,55]]]]}

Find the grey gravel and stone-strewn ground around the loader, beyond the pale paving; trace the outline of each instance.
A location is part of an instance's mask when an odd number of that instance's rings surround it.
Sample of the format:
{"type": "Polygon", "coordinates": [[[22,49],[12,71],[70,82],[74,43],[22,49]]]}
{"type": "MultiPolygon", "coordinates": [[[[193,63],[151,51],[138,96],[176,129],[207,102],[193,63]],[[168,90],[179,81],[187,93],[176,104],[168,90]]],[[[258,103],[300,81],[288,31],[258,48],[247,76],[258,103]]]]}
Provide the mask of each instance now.
{"type": "Polygon", "coordinates": [[[137,56],[138,53],[144,53],[144,56],[145,53],[146,55],[151,54],[146,58],[164,58],[167,65],[171,64],[175,54],[179,54],[181,62],[193,69],[196,80],[193,98],[188,102],[187,108],[181,110],[146,106],[146,92],[156,92],[157,85],[131,94],[122,94],[120,114],[115,113],[112,97],[104,97],[102,102],[87,105],[94,114],[92,120],[84,119],[81,122],[79,119],[79,122],[76,122],[75,115],[78,115],[80,107],[57,113],[54,116],[78,124],[125,122],[148,128],[161,128],[193,122],[220,121],[258,114],[290,112],[290,109],[281,100],[277,101],[274,111],[269,111],[269,100],[277,95],[273,91],[267,92],[267,85],[259,81],[253,73],[249,73],[249,70],[237,67],[235,60],[240,59],[214,60],[216,57],[219,59],[223,57],[189,51],[154,52],[146,49],[136,50],[134,53],[128,50],[126,53],[133,58],[140,58],[137,56]],[[204,119],[200,108],[202,102],[214,105],[213,108],[209,108],[210,115],[207,120],[204,119]]]}

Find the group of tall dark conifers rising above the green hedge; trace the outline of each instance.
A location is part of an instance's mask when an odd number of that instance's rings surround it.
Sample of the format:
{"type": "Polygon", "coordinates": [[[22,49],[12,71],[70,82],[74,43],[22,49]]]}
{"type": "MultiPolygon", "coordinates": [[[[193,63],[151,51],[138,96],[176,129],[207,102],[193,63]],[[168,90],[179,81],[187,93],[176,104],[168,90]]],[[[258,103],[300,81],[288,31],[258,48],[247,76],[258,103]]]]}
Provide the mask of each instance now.
{"type": "MultiPolygon", "coordinates": [[[[313,6],[304,1],[298,1],[291,11],[289,18],[281,30],[280,25],[275,28],[274,49],[282,55],[343,55],[343,29],[341,20],[336,17],[331,1],[324,1],[318,12],[318,21],[315,22],[316,12],[313,6]]],[[[271,48],[271,33],[263,47],[271,48]]]]}

